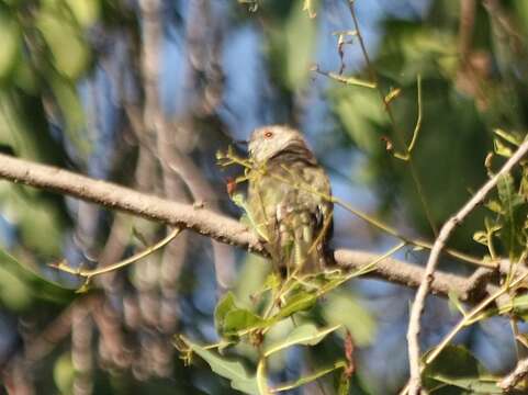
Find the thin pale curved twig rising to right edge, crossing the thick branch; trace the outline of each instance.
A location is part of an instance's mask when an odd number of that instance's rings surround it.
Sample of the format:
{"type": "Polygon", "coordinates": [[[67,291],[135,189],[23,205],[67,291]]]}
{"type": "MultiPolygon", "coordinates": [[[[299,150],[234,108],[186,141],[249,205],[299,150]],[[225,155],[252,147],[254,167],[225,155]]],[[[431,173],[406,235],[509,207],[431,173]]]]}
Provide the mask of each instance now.
{"type": "Polygon", "coordinates": [[[420,380],[420,365],[419,365],[419,331],[420,331],[420,316],[422,312],[424,311],[425,298],[427,293],[429,292],[430,284],[434,280],[434,273],[438,263],[438,258],[440,256],[440,251],[445,247],[451,232],[461,224],[465,217],[480,204],[484,201],[487,193],[492,191],[495,185],[497,184],[499,178],[506,173],[508,173],[512,168],[519,162],[520,159],[526,155],[528,151],[528,139],[525,140],[517,151],[506,161],[503,168],[493,177],[491,178],[474,195],[473,198],[465,203],[465,205],[448,222],[442,226],[438,238],[436,239],[432,249],[429,255],[429,259],[427,261],[427,266],[425,269],[424,278],[422,280],[422,284],[418,287],[416,293],[416,298],[413,303],[413,307],[411,309],[409,316],[409,324],[407,330],[407,341],[408,341],[408,359],[409,359],[409,369],[411,369],[411,382],[409,382],[409,394],[416,395],[419,393],[422,386],[420,380]]]}

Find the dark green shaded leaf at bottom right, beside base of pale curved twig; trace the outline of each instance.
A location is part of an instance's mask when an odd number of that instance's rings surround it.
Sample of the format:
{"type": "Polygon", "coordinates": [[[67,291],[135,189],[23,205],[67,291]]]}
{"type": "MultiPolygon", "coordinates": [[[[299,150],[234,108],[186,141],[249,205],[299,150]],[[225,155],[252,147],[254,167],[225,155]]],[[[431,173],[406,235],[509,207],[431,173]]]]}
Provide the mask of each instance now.
{"type": "Polygon", "coordinates": [[[435,394],[460,394],[458,388],[471,394],[501,394],[485,368],[462,346],[449,346],[423,373],[426,390],[435,394]]]}

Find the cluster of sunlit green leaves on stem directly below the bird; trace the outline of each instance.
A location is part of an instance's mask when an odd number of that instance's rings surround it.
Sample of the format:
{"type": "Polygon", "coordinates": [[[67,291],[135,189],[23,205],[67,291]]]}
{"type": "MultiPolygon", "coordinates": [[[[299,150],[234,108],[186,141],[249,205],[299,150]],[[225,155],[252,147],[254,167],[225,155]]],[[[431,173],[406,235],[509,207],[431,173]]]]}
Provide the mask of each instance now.
{"type": "MultiPolygon", "coordinates": [[[[335,287],[337,282],[342,281],[344,275],[339,273],[328,273],[317,275],[315,279],[289,278],[281,282],[276,274],[270,274],[262,290],[257,290],[259,297],[268,300],[267,307],[262,313],[251,312],[240,308],[236,304],[235,295],[231,292],[217,303],[215,308],[215,327],[222,340],[218,343],[206,347],[199,346],[191,340],[180,337],[182,345],[177,346],[183,353],[188,363],[191,361],[192,352],[203,358],[211,369],[217,374],[228,379],[235,390],[247,394],[276,393],[305,385],[312,381],[329,374],[336,370],[348,368],[346,360],[337,360],[329,368],[312,368],[315,371],[302,375],[300,379],[288,384],[278,384],[269,387],[268,359],[276,353],[287,352],[294,346],[316,346],[329,334],[340,328],[340,325],[333,327],[317,328],[313,323],[305,321],[297,324],[293,318],[303,317],[301,313],[312,309],[317,298],[335,287]],[[328,279],[326,279],[328,276],[328,279]],[[314,290],[321,290],[314,292],[314,290]],[[269,338],[268,334],[280,325],[284,319],[292,319],[293,328],[284,332],[280,338],[269,338]],[[223,357],[226,349],[235,347],[240,341],[247,342],[258,350],[258,358],[255,361],[257,369],[252,373],[247,373],[240,361],[234,361],[228,357],[223,357]],[[210,351],[217,349],[218,353],[210,351]]],[[[254,301],[256,306],[260,304],[254,301]]],[[[349,379],[349,376],[348,376],[349,379]]],[[[338,387],[349,386],[348,379],[338,382],[338,387]]]]}

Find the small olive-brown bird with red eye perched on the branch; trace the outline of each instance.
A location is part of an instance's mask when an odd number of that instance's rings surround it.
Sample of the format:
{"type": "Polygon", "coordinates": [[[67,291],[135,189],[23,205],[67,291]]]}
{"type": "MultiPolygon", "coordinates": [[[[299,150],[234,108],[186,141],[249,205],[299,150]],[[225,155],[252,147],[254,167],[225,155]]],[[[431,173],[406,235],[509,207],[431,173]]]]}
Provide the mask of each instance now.
{"type": "Polygon", "coordinates": [[[332,188],[303,135],[285,125],[256,128],[248,143],[247,207],[282,274],[319,273],[333,262],[332,188]]]}

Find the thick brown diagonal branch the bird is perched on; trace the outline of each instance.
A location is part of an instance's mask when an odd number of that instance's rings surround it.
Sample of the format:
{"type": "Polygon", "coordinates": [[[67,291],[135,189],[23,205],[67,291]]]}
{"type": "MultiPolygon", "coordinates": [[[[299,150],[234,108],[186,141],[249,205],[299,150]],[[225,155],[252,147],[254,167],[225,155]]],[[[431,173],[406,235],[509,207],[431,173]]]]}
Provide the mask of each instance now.
{"type": "MultiPolygon", "coordinates": [[[[251,252],[266,253],[258,237],[251,230],[238,221],[220,215],[201,204],[172,202],[114,183],[3,154],[0,154],[0,178],[70,195],[167,225],[188,228],[217,241],[238,246],[251,252]]],[[[363,268],[378,257],[375,253],[358,250],[338,249],[335,251],[337,266],[347,270],[363,268]]],[[[470,278],[437,273],[430,284],[430,292],[445,296],[452,291],[463,302],[475,302],[487,292],[485,285],[492,271],[485,268],[476,270],[470,278]]],[[[424,269],[386,258],[377,263],[372,274],[396,284],[416,287],[424,278],[424,269]]]]}

